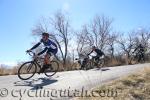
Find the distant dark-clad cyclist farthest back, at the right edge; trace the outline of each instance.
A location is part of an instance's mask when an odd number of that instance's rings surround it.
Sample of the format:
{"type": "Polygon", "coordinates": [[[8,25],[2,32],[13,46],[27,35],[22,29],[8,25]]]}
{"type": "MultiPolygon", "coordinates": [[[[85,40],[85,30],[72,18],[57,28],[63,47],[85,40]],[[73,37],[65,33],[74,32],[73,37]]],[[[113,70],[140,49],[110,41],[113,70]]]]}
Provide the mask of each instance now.
{"type": "Polygon", "coordinates": [[[137,51],[136,56],[139,55],[138,62],[141,61],[141,59],[145,60],[145,57],[144,57],[144,47],[142,46],[142,44],[139,44],[135,48],[135,50],[133,51],[133,53],[136,52],[136,51],[137,51]]]}

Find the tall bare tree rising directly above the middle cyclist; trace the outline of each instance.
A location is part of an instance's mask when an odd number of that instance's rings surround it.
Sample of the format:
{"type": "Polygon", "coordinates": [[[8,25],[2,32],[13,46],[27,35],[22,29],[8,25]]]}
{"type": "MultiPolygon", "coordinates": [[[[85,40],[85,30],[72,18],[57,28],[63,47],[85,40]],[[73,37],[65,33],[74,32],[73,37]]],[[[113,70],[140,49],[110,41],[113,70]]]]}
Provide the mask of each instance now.
{"type": "Polygon", "coordinates": [[[94,39],[94,45],[104,50],[108,43],[112,20],[108,17],[96,16],[91,23],[91,36],[94,39]]]}

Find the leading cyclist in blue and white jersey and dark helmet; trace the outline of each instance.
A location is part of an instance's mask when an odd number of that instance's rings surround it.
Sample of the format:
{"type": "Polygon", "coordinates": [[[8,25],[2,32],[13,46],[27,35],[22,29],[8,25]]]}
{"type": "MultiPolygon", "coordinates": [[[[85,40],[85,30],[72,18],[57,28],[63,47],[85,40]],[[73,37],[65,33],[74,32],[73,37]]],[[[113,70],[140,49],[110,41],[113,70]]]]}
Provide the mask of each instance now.
{"type": "Polygon", "coordinates": [[[56,53],[58,51],[57,45],[49,39],[49,34],[42,33],[42,39],[40,40],[40,42],[38,42],[36,45],[34,45],[31,49],[27,50],[27,52],[30,52],[33,49],[37,48],[41,43],[44,44],[45,48],[41,52],[39,52],[36,56],[39,56],[45,52],[46,52],[46,54],[44,57],[44,64],[40,70],[40,73],[44,72],[45,69],[47,69],[51,66],[51,64],[50,64],[51,54],[56,55],[56,53]]]}

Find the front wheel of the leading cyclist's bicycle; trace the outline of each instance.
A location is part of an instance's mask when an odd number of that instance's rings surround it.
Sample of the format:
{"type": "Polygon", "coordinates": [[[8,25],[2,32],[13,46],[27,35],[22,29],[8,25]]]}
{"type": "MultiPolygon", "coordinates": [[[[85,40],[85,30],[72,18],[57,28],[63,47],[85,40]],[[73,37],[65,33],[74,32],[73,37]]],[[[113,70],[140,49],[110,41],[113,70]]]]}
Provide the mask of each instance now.
{"type": "Polygon", "coordinates": [[[36,73],[37,66],[33,61],[25,62],[18,70],[18,77],[22,80],[28,80],[36,73]]]}

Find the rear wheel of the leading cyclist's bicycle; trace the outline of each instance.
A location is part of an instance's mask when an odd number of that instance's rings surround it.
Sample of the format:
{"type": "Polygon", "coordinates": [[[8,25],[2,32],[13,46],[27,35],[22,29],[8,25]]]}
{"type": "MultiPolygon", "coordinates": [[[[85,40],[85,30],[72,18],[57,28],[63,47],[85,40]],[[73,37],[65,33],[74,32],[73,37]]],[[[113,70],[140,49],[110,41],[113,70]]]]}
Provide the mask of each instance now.
{"type": "Polygon", "coordinates": [[[59,64],[57,61],[51,61],[51,66],[45,70],[45,75],[51,77],[55,75],[59,70],[59,64]]]}

